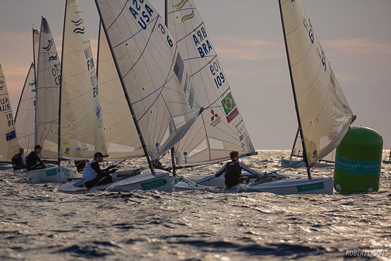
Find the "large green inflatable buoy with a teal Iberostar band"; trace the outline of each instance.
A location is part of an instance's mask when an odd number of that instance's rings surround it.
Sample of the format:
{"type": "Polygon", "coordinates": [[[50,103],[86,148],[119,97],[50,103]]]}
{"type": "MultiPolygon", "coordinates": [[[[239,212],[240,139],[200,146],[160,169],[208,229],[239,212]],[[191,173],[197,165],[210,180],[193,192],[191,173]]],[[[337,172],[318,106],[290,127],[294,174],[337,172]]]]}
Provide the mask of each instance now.
{"type": "Polygon", "coordinates": [[[383,138],[367,127],[352,127],[335,154],[334,189],[338,192],[379,190],[383,138]]]}

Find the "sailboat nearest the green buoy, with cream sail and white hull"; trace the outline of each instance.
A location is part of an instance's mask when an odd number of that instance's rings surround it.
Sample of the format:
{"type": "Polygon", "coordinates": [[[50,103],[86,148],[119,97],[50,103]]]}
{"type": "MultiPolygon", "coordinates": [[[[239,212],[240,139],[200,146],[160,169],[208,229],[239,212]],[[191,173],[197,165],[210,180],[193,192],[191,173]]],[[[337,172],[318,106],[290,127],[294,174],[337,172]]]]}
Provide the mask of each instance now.
{"type": "MultiPolygon", "coordinates": [[[[178,3],[181,13],[187,12],[182,13],[183,17],[195,16],[193,5],[186,0],[178,3]],[[186,6],[188,3],[192,5],[186,6]]],[[[307,177],[265,173],[253,181],[250,189],[276,194],[332,194],[332,179],[312,178],[310,166],[338,146],[355,116],[329,66],[303,2],[280,0],[279,5],[307,177]]],[[[199,185],[211,187],[224,187],[223,182],[221,176],[214,178],[213,175],[196,181],[199,185]]],[[[186,187],[182,183],[180,189],[197,187],[186,187]]]]}

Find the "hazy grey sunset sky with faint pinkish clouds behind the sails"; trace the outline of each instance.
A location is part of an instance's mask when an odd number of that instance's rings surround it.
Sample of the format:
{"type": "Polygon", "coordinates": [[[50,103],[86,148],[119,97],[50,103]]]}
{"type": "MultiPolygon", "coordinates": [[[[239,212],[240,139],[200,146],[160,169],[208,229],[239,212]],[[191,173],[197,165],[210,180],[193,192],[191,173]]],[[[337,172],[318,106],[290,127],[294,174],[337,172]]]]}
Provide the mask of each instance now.
{"type": "MultiPolygon", "coordinates": [[[[79,0],[96,60],[99,15],[79,0]]],[[[257,149],[291,148],[297,119],[276,0],[195,0],[257,149]]],[[[152,5],[164,16],[164,1],[152,5]]],[[[391,0],[305,0],[357,120],[391,147],[391,0]]],[[[14,114],[43,15],[61,54],[65,0],[0,0],[0,63],[14,114]]]]}

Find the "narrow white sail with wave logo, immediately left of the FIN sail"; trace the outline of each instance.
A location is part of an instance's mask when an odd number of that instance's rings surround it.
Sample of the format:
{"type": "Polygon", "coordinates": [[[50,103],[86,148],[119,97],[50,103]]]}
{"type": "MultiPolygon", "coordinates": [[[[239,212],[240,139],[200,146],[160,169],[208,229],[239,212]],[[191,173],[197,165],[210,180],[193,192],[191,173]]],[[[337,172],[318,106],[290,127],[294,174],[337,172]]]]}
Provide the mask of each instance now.
{"type": "Polygon", "coordinates": [[[60,57],[46,19],[42,17],[36,80],[35,144],[43,146],[43,159],[57,159],[60,57]]]}

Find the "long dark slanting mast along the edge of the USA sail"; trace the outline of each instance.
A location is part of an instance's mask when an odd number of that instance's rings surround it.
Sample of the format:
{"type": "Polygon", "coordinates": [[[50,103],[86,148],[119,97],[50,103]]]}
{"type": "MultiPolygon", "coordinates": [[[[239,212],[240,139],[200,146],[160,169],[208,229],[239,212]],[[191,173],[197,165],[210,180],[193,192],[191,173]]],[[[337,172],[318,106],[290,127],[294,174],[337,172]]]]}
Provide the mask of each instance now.
{"type": "MultiPolygon", "coordinates": [[[[96,4],[96,7],[98,9],[98,13],[99,13],[99,17],[101,18],[102,17],[102,12],[101,12],[101,9],[100,9],[100,6],[99,4],[96,2],[95,0],[95,4],[96,4]]],[[[128,94],[128,90],[126,89],[125,87],[125,83],[124,83],[124,79],[122,78],[122,74],[121,74],[121,71],[118,67],[118,61],[117,59],[115,58],[115,55],[114,55],[114,50],[113,50],[113,47],[111,46],[111,42],[109,41],[109,35],[108,35],[108,32],[107,32],[107,28],[106,28],[106,24],[105,23],[102,23],[102,27],[103,27],[103,30],[105,31],[105,35],[106,35],[106,38],[108,39],[108,44],[109,44],[109,48],[110,48],[110,52],[111,52],[111,56],[113,58],[113,61],[114,61],[114,65],[115,65],[115,69],[117,70],[117,73],[118,73],[118,76],[119,76],[119,80],[121,82],[121,85],[122,85],[122,89],[124,90],[124,95],[125,95],[125,98],[126,98],[126,101],[128,103],[128,106],[129,106],[129,109],[130,109],[130,114],[131,114],[131,117],[134,121],[134,125],[136,126],[136,130],[137,130],[137,134],[138,134],[138,137],[140,137],[140,142],[141,142],[141,146],[143,147],[143,150],[144,150],[144,153],[145,153],[145,157],[147,158],[147,162],[148,162],[148,165],[151,169],[151,172],[152,174],[155,173],[155,170],[152,166],[152,161],[151,161],[151,158],[150,156],[148,155],[148,150],[147,150],[147,145],[145,144],[145,140],[144,140],[144,137],[141,133],[141,129],[140,129],[140,126],[138,125],[138,121],[136,119],[136,115],[134,113],[134,110],[133,110],[133,107],[131,106],[131,102],[130,102],[130,97],[129,97],[129,94],[128,94]]],[[[63,42],[64,43],[64,42],[63,42]]],[[[62,64],[62,63],[61,63],[62,64]]],[[[60,92],[61,93],[61,92],[60,92]]],[[[61,95],[60,95],[61,97],[61,95]]]]}

